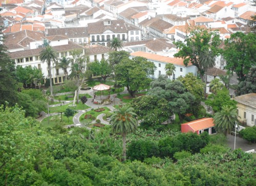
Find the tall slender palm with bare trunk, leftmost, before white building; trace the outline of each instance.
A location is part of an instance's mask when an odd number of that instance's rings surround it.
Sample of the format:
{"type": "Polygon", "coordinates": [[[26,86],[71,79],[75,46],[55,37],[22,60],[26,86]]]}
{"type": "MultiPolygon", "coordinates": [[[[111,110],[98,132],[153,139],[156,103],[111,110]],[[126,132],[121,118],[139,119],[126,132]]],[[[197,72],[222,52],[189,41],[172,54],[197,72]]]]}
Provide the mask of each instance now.
{"type": "Polygon", "coordinates": [[[47,62],[47,66],[49,69],[49,76],[50,76],[50,89],[51,89],[51,96],[52,94],[52,72],[51,72],[51,62],[58,61],[57,52],[50,46],[47,45],[45,49],[40,51],[40,60],[42,63],[47,62]]]}

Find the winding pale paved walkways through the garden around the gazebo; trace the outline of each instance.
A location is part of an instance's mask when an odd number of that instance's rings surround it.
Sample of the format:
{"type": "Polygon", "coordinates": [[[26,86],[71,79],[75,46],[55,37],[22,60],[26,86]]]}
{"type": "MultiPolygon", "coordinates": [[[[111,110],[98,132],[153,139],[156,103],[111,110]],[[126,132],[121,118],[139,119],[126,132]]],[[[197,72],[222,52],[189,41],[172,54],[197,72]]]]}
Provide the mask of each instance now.
{"type": "MultiPolygon", "coordinates": [[[[90,96],[93,97],[93,89],[89,90],[88,92],[86,92],[87,94],[89,94],[90,96]]],[[[124,91],[122,91],[120,94],[127,94],[128,91],[126,89],[126,87],[124,88],[124,91]]],[[[58,93],[56,94],[56,96],[59,96],[59,95],[68,95],[68,94],[72,94],[72,92],[63,92],[63,93],[58,93]]],[[[76,113],[73,117],[73,124],[72,125],[66,125],[65,127],[71,127],[71,126],[75,126],[75,127],[86,127],[83,123],[81,123],[79,121],[79,118],[81,117],[81,115],[86,112],[86,111],[90,111],[93,109],[96,109],[96,108],[99,108],[99,107],[108,107],[111,111],[113,111],[115,108],[113,107],[114,105],[119,105],[120,104],[120,100],[118,98],[116,98],[117,94],[114,94],[114,95],[110,95],[110,100],[113,100],[113,102],[109,105],[97,105],[97,104],[94,104],[93,103],[93,98],[88,98],[87,102],[86,102],[86,105],[88,105],[90,108],[88,109],[84,109],[84,110],[77,110],[78,113],[76,113]]],[[[54,100],[56,102],[58,102],[58,100],[54,100]]],[[[56,106],[60,106],[60,105],[66,105],[66,104],[71,104],[73,103],[73,101],[62,101],[61,100],[61,103],[59,104],[55,104],[55,105],[49,105],[49,107],[56,107],[56,106]]],[[[58,115],[60,113],[51,113],[51,114],[47,114],[45,113],[44,111],[41,112],[42,116],[40,118],[38,118],[37,120],[38,121],[42,121],[44,120],[45,118],[47,117],[50,117],[52,115],[58,115]]],[[[100,122],[102,124],[105,124],[105,125],[109,125],[109,122],[106,122],[103,120],[103,116],[105,114],[104,113],[101,113],[98,115],[97,119],[100,120],[100,122]]],[[[92,123],[96,123],[95,121],[93,121],[92,123]]],[[[91,128],[89,127],[86,127],[88,128],[89,130],[91,128]]]]}

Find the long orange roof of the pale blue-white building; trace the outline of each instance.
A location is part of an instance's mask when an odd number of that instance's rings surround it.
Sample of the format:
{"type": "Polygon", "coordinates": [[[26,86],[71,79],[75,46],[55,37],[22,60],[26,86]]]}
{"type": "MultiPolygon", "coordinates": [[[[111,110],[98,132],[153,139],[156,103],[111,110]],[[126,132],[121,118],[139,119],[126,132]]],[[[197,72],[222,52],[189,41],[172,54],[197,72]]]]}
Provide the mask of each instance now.
{"type": "MultiPolygon", "coordinates": [[[[172,58],[172,57],[166,57],[166,56],[160,56],[157,54],[151,54],[151,53],[146,53],[146,52],[134,52],[131,53],[131,56],[141,56],[150,60],[154,60],[154,61],[159,61],[159,62],[164,62],[164,63],[173,63],[179,66],[185,66],[183,63],[183,59],[181,58],[172,58]]],[[[191,63],[188,64],[188,66],[192,65],[191,63]]]]}

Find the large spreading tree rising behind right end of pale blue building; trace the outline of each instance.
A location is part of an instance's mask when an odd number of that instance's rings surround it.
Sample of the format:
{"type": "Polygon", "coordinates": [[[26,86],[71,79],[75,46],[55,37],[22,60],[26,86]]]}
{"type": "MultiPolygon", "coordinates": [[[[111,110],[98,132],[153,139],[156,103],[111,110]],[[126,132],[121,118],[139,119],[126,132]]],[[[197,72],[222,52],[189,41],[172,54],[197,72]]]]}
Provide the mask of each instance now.
{"type": "Polygon", "coordinates": [[[191,30],[185,41],[174,42],[180,49],[175,57],[184,59],[184,64],[192,63],[198,68],[198,74],[203,81],[203,76],[208,68],[213,66],[212,58],[220,55],[219,45],[221,44],[218,31],[209,31],[203,29],[191,30]]]}

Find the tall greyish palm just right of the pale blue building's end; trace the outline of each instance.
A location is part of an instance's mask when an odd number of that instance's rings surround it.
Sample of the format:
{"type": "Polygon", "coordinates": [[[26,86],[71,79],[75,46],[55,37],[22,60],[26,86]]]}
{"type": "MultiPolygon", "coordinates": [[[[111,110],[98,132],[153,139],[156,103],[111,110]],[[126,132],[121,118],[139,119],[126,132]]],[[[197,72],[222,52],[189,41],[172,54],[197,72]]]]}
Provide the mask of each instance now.
{"type": "Polygon", "coordinates": [[[206,98],[206,84],[207,84],[207,70],[209,68],[214,67],[215,65],[215,57],[212,55],[212,52],[209,50],[203,50],[200,55],[199,55],[199,66],[201,69],[200,76],[201,80],[203,82],[203,74],[204,74],[204,82],[205,82],[205,87],[204,87],[204,97],[206,98]]]}

